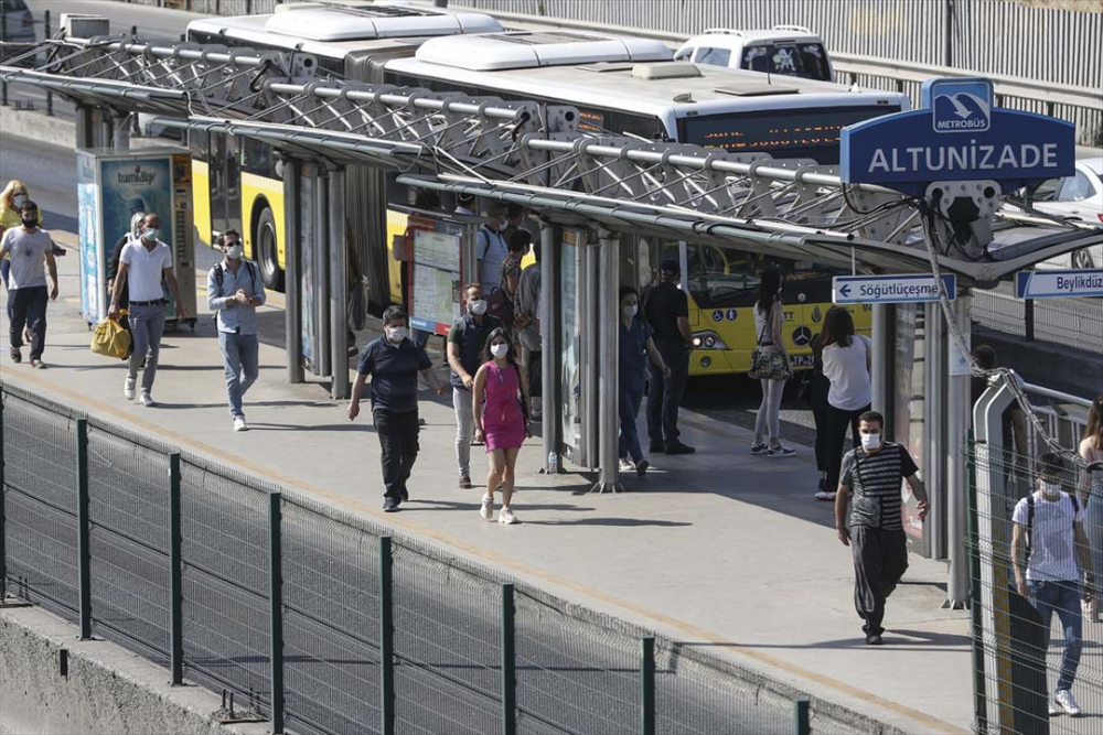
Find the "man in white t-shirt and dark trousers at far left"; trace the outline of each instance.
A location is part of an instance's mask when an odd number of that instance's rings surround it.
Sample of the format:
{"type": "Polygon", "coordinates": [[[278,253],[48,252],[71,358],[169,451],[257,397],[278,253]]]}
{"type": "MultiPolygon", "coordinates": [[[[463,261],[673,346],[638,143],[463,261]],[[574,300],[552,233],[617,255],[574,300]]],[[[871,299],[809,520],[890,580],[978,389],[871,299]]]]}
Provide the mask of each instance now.
{"type": "Polygon", "coordinates": [[[24,201],[19,207],[22,227],[11,227],[0,240],[0,260],[11,257],[8,274],[8,313],[11,316],[9,337],[11,359],[23,359],[23,327],[31,332],[31,367],[42,368],[42,350],[46,342],[46,303],[57,299],[57,266],[54,263],[53,240],[39,227],[39,205],[24,201]],[[46,268],[53,287],[46,291],[46,268]]]}

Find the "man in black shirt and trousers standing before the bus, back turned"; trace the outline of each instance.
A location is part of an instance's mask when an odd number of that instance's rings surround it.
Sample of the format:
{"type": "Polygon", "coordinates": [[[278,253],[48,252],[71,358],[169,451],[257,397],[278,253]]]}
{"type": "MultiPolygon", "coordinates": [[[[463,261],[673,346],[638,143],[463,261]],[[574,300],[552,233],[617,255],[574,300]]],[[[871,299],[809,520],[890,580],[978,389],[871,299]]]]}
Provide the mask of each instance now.
{"type": "Polygon", "coordinates": [[[643,313],[654,333],[655,346],[663,363],[671,369],[667,377],[654,365],[647,365],[647,435],[651,452],[693,454],[694,447],[678,440],[678,408],[689,378],[689,299],[677,288],[682,268],[677,260],[664,260],[658,270],[658,283],[644,294],[643,313]]]}

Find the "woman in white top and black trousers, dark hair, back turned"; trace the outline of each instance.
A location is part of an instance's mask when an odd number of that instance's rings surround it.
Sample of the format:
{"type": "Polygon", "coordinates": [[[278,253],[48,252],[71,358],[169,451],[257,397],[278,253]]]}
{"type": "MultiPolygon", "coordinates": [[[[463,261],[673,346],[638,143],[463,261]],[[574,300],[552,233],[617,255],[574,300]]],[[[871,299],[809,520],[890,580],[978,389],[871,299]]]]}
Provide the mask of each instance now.
{"type": "Polygon", "coordinates": [[[854,317],[842,306],[827,310],[823,331],[824,376],[831,380],[827,391],[827,477],[824,487],[838,488],[838,474],[843,466],[843,445],[846,428],[850,441],[858,446],[858,417],[870,409],[872,381],[869,377],[871,348],[869,337],[854,333],[854,317]]]}

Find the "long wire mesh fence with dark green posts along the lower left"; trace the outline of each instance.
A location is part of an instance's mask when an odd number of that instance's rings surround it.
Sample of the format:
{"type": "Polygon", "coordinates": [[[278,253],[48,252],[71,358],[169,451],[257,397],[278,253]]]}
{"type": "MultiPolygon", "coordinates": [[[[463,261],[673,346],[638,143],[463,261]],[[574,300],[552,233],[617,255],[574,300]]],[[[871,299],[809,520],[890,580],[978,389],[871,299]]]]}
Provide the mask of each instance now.
{"type": "Polygon", "coordinates": [[[250,475],[0,398],[0,597],[233,693],[277,733],[868,729],[250,475]]]}

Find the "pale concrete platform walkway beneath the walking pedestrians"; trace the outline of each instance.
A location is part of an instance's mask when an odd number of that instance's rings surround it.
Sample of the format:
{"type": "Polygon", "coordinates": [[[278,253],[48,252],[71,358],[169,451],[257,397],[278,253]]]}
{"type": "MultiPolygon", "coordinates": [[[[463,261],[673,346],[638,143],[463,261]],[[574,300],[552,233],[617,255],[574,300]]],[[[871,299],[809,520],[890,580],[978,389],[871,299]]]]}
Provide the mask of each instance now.
{"type": "MultiPolygon", "coordinates": [[[[75,241],[54,236],[66,247],[75,241]]],[[[167,333],[158,408],[124,399],[121,363],[88,349],[77,258],[71,250],[58,259],[50,369],[13,365],[3,350],[4,381],[312,493],[901,731],[968,732],[967,614],[941,609],[944,564],[912,558],[889,601],[886,646],[866,647],[852,602],[850,552],[836,539],[829,504],[812,499],[811,450],[792,460],[753,457],[749,432],[684,414],[683,436],[697,454],[652,457],[647,477],[625,478],[635,491],[588,495],[590,479],[578,474],[538,475],[540,445],[533,440],[518,462],[514,508],[522,523],[506,527],[479,517],[485,464],[478,448],[475,489],[457,487],[450,397],[426,391],[411,501],[385,515],[370,418],[351,423],[344,403],[330,401],[322,387],[285,382],[281,299],[258,312],[260,380],[245,406],[250,431],[235,433],[210,318],[199,320],[194,335],[167,333]]],[[[199,301],[205,303],[202,294],[199,301]]]]}

